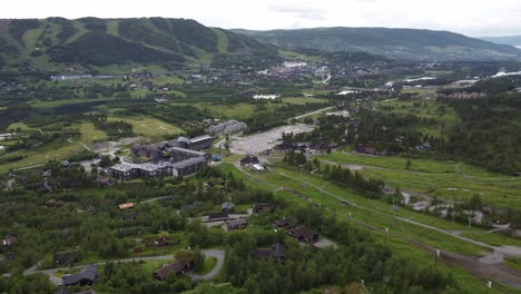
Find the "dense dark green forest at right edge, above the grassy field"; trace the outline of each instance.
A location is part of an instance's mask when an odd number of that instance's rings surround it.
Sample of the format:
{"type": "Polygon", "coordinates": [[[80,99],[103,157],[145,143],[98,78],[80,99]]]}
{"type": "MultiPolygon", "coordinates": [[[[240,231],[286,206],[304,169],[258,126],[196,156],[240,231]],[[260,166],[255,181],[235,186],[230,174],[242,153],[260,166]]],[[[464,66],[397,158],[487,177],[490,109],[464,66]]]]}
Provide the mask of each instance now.
{"type": "Polygon", "coordinates": [[[521,95],[445,102],[462,122],[449,130],[439,153],[493,171],[521,171],[521,95]]]}

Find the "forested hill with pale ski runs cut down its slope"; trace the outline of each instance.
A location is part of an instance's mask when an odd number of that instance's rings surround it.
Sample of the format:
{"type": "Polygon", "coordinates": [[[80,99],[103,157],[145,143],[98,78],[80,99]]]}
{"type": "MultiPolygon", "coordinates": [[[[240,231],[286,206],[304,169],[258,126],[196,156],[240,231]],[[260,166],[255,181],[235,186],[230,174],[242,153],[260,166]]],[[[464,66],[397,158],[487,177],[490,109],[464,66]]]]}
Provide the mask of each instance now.
{"type": "Polygon", "coordinates": [[[0,66],[52,68],[158,63],[256,67],[278,61],[272,46],[195,20],[63,18],[0,20],[0,66]]]}

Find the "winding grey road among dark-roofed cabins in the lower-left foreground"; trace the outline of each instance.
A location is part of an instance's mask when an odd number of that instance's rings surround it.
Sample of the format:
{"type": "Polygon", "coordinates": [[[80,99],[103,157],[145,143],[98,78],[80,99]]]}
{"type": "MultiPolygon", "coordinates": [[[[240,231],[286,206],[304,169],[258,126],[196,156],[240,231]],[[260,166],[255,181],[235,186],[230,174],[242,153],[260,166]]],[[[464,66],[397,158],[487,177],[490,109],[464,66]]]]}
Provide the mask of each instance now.
{"type": "MultiPolygon", "coordinates": [[[[226,253],[225,251],[219,251],[219,249],[207,249],[207,251],[203,251],[203,253],[205,254],[206,257],[215,257],[217,258],[217,264],[215,265],[214,270],[212,270],[212,272],[209,272],[208,274],[204,275],[204,276],[198,276],[199,280],[210,280],[213,277],[215,277],[219,271],[223,268],[223,265],[224,265],[224,259],[226,257],[226,253]]],[[[131,262],[147,262],[147,261],[168,261],[168,259],[174,259],[174,256],[173,255],[161,255],[161,256],[146,256],[146,257],[135,257],[135,258],[122,258],[122,259],[115,259],[115,261],[110,261],[112,263],[131,263],[131,262]]],[[[100,263],[95,263],[96,265],[104,265],[106,264],[107,262],[100,262],[100,263]]],[[[81,268],[83,267],[85,265],[77,265],[77,266],[73,266],[73,267],[60,267],[60,268],[51,268],[51,270],[42,270],[42,271],[38,271],[38,265],[40,263],[38,263],[37,265],[26,270],[23,272],[23,275],[31,275],[31,274],[37,274],[37,273],[41,273],[41,274],[46,274],[47,276],[49,276],[49,281],[55,284],[55,285],[61,285],[62,283],[62,280],[61,277],[56,277],[55,276],[55,273],[58,272],[58,271],[68,271],[68,270],[71,270],[71,268],[81,268]]]]}

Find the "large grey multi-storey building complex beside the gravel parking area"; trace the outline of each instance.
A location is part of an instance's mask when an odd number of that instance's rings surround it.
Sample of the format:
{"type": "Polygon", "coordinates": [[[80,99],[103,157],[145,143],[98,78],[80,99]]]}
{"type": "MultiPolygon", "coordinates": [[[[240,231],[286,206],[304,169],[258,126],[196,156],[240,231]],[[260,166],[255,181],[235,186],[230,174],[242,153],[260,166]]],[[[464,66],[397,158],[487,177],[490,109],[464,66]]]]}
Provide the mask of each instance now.
{"type": "Polygon", "coordinates": [[[165,176],[187,176],[204,168],[212,157],[201,153],[212,148],[210,136],[193,139],[179,137],[176,140],[154,145],[135,145],[132,154],[146,157],[150,161],[142,164],[121,163],[109,168],[115,178],[130,180],[134,178],[161,178],[165,176]]]}

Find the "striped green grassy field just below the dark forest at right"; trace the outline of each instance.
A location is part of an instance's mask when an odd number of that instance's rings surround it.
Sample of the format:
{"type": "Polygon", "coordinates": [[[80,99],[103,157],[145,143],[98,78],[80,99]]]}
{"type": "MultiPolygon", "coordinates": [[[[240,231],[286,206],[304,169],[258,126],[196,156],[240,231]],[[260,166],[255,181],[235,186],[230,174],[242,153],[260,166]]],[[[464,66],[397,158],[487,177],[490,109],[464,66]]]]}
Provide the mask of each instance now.
{"type": "Polygon", "coordinates": [[[382,179],[391,187],[451,200],[464,200],[479,194],[484,204],[501,208],[521,206],[521,178],[486,171],[463,163],[366,156],[332,153],[322,160],[362,167],[362,174],[382,179]]]}

